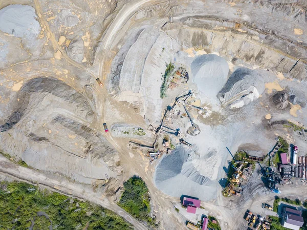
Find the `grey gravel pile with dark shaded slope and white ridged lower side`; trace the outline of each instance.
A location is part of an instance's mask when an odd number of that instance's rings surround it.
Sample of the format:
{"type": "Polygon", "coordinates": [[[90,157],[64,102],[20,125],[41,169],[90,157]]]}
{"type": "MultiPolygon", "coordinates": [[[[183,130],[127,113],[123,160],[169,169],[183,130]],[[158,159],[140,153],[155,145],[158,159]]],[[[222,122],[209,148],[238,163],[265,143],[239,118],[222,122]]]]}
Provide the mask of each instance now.
{"type": "Polygon", "coordinates": [[[240,108],[256,100],[265,90],[265,82],[255,70],[239,68],[227,80],[217,97],[223,106],[240,108]]]}

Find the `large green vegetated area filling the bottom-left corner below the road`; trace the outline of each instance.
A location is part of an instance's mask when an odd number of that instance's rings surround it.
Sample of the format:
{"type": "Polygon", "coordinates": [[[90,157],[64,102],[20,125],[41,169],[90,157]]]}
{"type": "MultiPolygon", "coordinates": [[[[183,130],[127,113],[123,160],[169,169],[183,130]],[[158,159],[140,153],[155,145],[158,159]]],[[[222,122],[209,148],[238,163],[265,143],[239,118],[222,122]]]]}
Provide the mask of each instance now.
{"type": "Polygon", "coordinates": [[[110,210],[90,202],[83,202],[59,193],[40,190],[24,182],[0,183],[0,229],[27,229],[34,221],[33,229],[133,229],[123,218],[110,210]]]}

